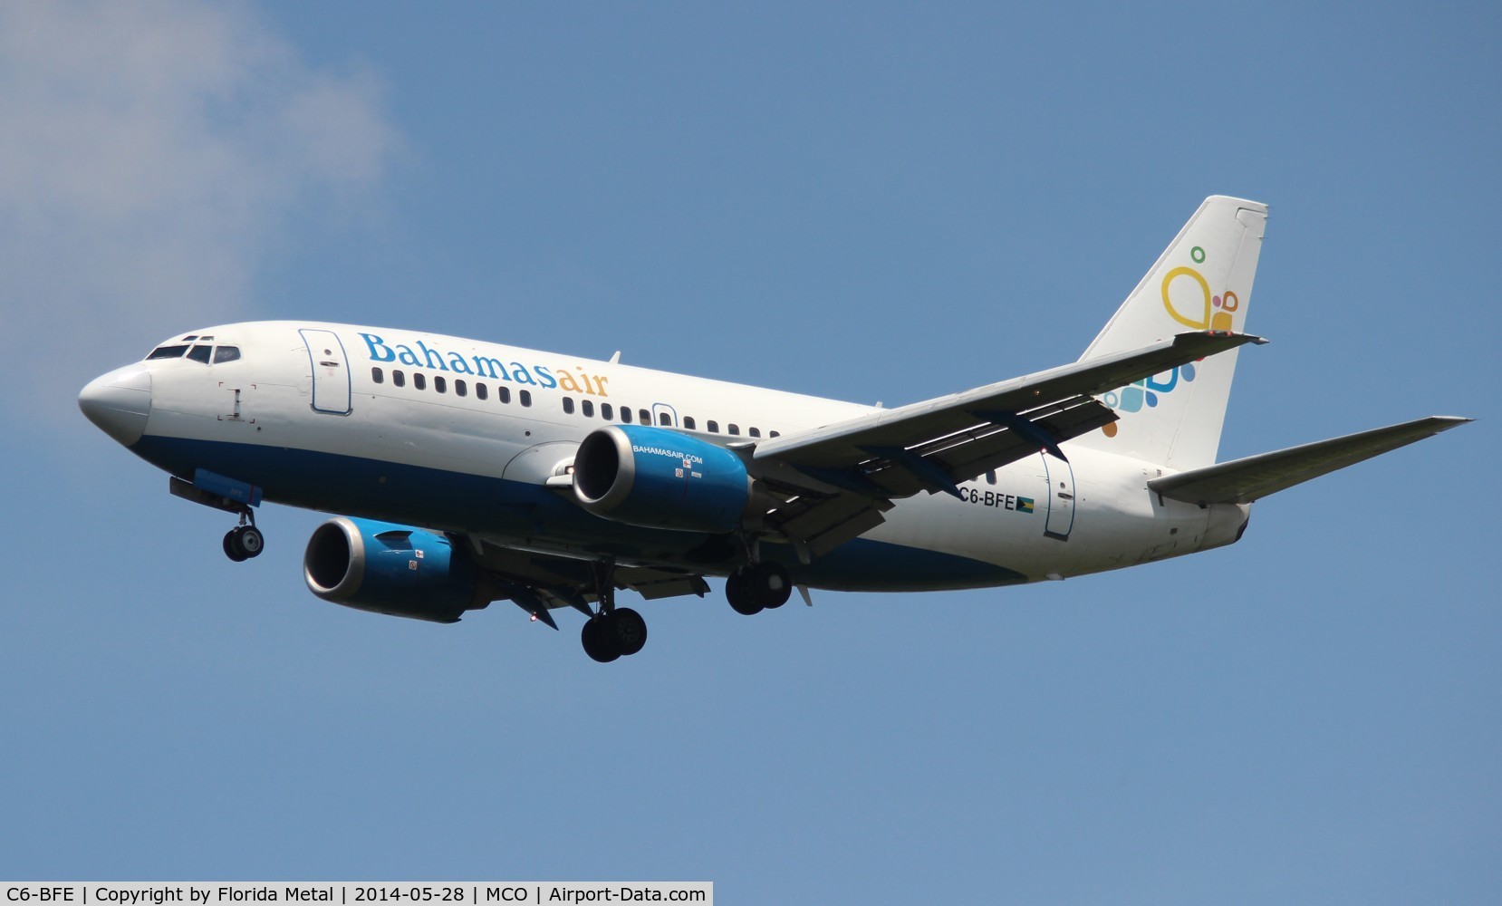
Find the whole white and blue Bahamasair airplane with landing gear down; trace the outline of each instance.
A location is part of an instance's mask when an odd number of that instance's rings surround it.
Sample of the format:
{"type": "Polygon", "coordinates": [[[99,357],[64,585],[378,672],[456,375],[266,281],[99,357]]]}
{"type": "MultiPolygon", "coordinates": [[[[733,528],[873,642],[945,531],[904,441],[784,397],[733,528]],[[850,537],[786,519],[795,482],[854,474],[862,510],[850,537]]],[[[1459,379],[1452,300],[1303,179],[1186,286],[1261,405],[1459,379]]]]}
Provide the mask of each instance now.
{"type": "Polygon", "coordinates": [[[518,349],[332,323],[164,341],[90,382],[84,415],[239,517],[338,514],[308,589],[452,624],[512,601],[595,661],[641,651],[616,604],[700,595],[737,613],[796,589],[918,592],[1101,572],[1233,544],[1251,503],[1461,425],[1431,416],[1217,463],[1268,207],[1206,198],[1078,361],[883,409],[518,349]]]}

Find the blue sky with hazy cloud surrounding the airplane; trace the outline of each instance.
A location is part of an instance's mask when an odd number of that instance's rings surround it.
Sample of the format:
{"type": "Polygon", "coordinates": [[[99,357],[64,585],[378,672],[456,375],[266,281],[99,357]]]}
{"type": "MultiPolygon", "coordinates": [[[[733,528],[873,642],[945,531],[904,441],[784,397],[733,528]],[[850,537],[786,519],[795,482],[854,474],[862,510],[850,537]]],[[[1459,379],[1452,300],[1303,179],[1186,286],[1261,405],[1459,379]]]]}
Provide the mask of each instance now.
{"type": "Polygon", "coordinates": [[[1370,5],[0,8],[0,874],[709,879],[724,903],[1484,901],[1502,14],[1370,5]],[[1226,550],[1011,590],[302,586],[77,412],[228,320],[900,404],[1072,361],[1272,206],[1221,457],[1479,421],[1226,550]],[[716,589],[718,590],[718,589],[716,589]],[[796,601],[795,601],[796,604],[796,601]]]}

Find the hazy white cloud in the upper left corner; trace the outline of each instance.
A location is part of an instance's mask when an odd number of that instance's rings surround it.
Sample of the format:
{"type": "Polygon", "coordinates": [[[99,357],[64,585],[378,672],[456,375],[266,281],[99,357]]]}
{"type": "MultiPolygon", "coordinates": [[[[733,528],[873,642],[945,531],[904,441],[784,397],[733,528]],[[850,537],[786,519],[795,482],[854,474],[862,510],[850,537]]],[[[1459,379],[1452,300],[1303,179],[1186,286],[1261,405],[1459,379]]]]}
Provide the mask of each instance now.
{"type": "Polygon", "coordinates": [[[366,197],[398,146],[369,74],[309,66],[246,8],[0,5],[6,371],[68,350],[87,380],[120,335],[134,356],[243,314],[278,233],[366,197]]]}

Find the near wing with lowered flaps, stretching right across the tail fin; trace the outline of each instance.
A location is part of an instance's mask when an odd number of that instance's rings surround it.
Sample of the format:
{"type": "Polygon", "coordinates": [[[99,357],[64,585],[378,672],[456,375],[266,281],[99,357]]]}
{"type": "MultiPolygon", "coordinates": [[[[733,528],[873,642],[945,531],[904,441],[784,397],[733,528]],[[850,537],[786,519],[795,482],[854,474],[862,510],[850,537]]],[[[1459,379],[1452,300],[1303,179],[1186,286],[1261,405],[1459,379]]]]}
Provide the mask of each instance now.
{"type": "Polygon", "coordinates": [[[1205,331],[1074,362],[936,400],[763,440],[748,467],[783,493],[768,527],[823,553],[883,521],[892,499],[918,491],[958,496],[958,482],[1116,421],[1095,400],[1136,380],[1227,352],[1260,337],[1205,331]]]}

